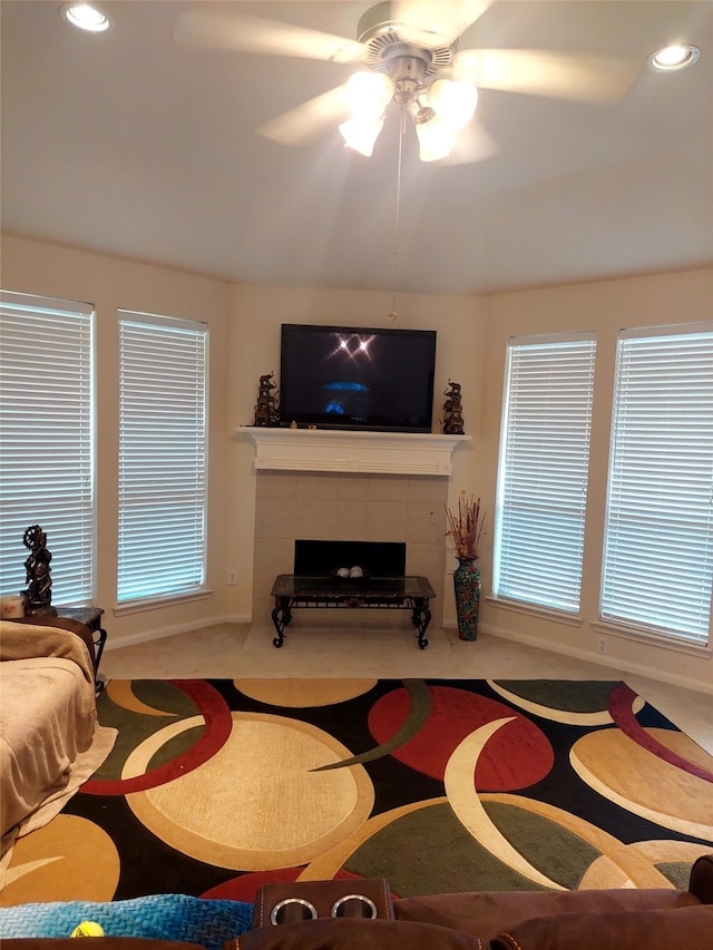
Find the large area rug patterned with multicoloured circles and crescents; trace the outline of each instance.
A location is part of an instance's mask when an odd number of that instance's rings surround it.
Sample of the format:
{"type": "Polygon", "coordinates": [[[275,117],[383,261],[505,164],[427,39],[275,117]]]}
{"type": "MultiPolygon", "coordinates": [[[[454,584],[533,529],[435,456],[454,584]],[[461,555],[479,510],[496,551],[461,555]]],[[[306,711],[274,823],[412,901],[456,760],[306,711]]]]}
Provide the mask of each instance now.
{"type": "Polygon", "coordinates": [[[113,680],[101,768],[6,905],[382,876],[395,895],[685,888],[713,760],[624,683],[113,680]]]}

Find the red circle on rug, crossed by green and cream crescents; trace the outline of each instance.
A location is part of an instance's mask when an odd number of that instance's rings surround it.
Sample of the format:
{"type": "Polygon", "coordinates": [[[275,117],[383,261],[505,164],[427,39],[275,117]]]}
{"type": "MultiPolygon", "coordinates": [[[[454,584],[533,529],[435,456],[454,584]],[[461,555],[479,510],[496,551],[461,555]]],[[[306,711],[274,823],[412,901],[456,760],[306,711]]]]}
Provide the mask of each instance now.
{"type": "MultiPolygon", "coordinates": [[[[431,709],[416,735],[391,755],[417,772],[441,780],[458,745],[496,719],[510,718],[486,742],[475,772],[479,792],[510,792],[539,782],[555,755],[545,734],[517,709],[453,686],[429,686],[431,709]]],[[[393,689],[369,713],[369,728],[379,743],[391,738],[411,712],[409,693],[393,689]]],[[[475,765],[475,763],[473,763],[475,765]]]]}

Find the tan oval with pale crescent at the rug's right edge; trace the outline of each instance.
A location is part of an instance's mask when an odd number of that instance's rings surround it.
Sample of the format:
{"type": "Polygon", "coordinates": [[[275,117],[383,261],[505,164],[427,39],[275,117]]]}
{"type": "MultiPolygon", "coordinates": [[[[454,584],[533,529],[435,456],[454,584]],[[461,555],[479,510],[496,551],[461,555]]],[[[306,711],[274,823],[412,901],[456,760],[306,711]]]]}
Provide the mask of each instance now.
{"type": "MultiPolygon", "coordinates": [[[[667,743],[674,744],[673,737],[667,743]]],[[[713,841],[713,784],[665,762],[619,729],[577,740],[569,761],[611,802],[664,827],[713,841]]]]}

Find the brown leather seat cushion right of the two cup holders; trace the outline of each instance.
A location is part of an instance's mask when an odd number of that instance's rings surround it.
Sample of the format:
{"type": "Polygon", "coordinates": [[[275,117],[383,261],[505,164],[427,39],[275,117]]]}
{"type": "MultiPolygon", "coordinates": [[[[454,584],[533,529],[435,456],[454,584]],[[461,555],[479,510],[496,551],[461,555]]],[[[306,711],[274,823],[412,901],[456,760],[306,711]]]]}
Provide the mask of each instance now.
{"type": "Polygon", "coordinates": [[[697,907],[699,903],[692,894],[673,889],[479,891],[402,898],[393,902],[393,914],[397,920],[452,927],[487,942],[501,930],[534,917],[697,907]]]}

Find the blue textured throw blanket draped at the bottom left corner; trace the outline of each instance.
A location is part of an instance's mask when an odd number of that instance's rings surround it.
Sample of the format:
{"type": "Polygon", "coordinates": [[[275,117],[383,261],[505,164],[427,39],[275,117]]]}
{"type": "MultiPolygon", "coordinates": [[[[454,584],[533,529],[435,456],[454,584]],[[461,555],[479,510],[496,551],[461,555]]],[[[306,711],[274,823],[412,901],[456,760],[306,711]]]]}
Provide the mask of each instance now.
{"type": "Polygon", "coordinates": [[[183,940],[199,943],[206,950],[223,950],[224,941],[252,928],[253,905],[186,894],[150,894],[109,903],[20,904],[0,908],[0,939],[69,937],[82,920],[99,923],[107,937],[183,940]]]}

